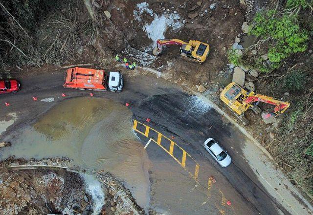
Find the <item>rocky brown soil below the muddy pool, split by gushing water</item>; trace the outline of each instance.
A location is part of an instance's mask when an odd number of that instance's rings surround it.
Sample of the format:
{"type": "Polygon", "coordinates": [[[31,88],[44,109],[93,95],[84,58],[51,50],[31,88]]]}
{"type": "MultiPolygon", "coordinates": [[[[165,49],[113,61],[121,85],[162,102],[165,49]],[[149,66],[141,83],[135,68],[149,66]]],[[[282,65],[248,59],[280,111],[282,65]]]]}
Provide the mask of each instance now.
{"type": "MultiPolygon", "coordinates": [[[[87,190],[88,182],[79,173],[53,166],[70,166],[70,161],[57,158],[41,161],[9,158],[0,162],[0,211],[12,215],[92,214],[95,199],[87,190]],[[28,167],[8,168],[17,165],[28,167]],[[31,169],[29,165],[50,167],[31,169]]],[[[110,173],[102,172],[97,178],[105,196],[100,214],[144,214],[130,191],[110,173]]],[[[97,189],[101,190],[101,187],[97,189]]]]}

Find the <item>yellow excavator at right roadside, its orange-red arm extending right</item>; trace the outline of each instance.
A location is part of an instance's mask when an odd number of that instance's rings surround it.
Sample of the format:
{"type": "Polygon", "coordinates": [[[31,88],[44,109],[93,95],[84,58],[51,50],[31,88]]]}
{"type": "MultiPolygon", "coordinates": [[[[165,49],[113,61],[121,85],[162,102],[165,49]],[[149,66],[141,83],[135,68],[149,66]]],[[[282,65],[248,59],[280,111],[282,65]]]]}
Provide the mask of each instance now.
{"type": "Polygon", "coordinates": [[[261,109],[257,107],[259,102],[264,102],[275,106],[273,112],[263,116],[264,118],[277,116],[285,112],[286,109],[290,106],[289,102],[282,102],[269,96],[256,94],[252,91],[246,91],[235,82],[230,83],[223,89],[220,98],[228,106],[228,108],[230,108],[230,110],[235,112],[236,116],[238,116],[244,125],[249,124],[249,121],[245,117],[245,112],[247,109],[251,109],[256,114],[261,113],[261,109]]]}

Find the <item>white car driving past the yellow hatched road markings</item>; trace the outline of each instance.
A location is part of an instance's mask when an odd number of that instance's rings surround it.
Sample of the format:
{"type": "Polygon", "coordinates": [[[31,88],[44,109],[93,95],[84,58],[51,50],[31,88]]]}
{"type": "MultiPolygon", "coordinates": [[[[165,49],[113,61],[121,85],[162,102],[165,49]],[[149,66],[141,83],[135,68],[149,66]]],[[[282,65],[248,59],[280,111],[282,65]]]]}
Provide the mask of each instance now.
{"type": "Polygon", "coordinates": [[[208,151],[212,157],[221,165],[221,167],[227,167],[231,163],[230,156],[213,138],[208,138],[204,142],[203,146],[206,151],[208,151]]]}

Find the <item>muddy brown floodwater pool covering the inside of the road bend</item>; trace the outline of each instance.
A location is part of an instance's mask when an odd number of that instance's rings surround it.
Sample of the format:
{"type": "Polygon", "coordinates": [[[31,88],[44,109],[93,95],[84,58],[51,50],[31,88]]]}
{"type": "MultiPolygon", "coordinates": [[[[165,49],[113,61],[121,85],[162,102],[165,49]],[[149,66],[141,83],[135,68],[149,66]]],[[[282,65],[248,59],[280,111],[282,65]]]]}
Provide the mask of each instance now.
{"type": "Polygon", "coordinates": [[[132,129],[132,112],[103,98],[74,98],[51,108],[38,121],[16,131],[0,158],[65,156],[89,170],[112,172],[126,182],[137,203],[149,203],[149,159],[132,129]]]}

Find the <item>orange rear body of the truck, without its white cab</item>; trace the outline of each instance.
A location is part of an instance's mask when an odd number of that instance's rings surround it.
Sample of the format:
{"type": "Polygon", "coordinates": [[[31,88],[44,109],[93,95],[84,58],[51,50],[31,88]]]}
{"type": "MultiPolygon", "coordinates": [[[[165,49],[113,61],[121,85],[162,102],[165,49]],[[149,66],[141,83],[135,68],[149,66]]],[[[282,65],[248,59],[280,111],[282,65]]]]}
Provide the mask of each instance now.
{"type": "Polygon", "coordinates": [[[106,90],[104,70],[74,67],[67,69],[64,87],[106,90]]]}

